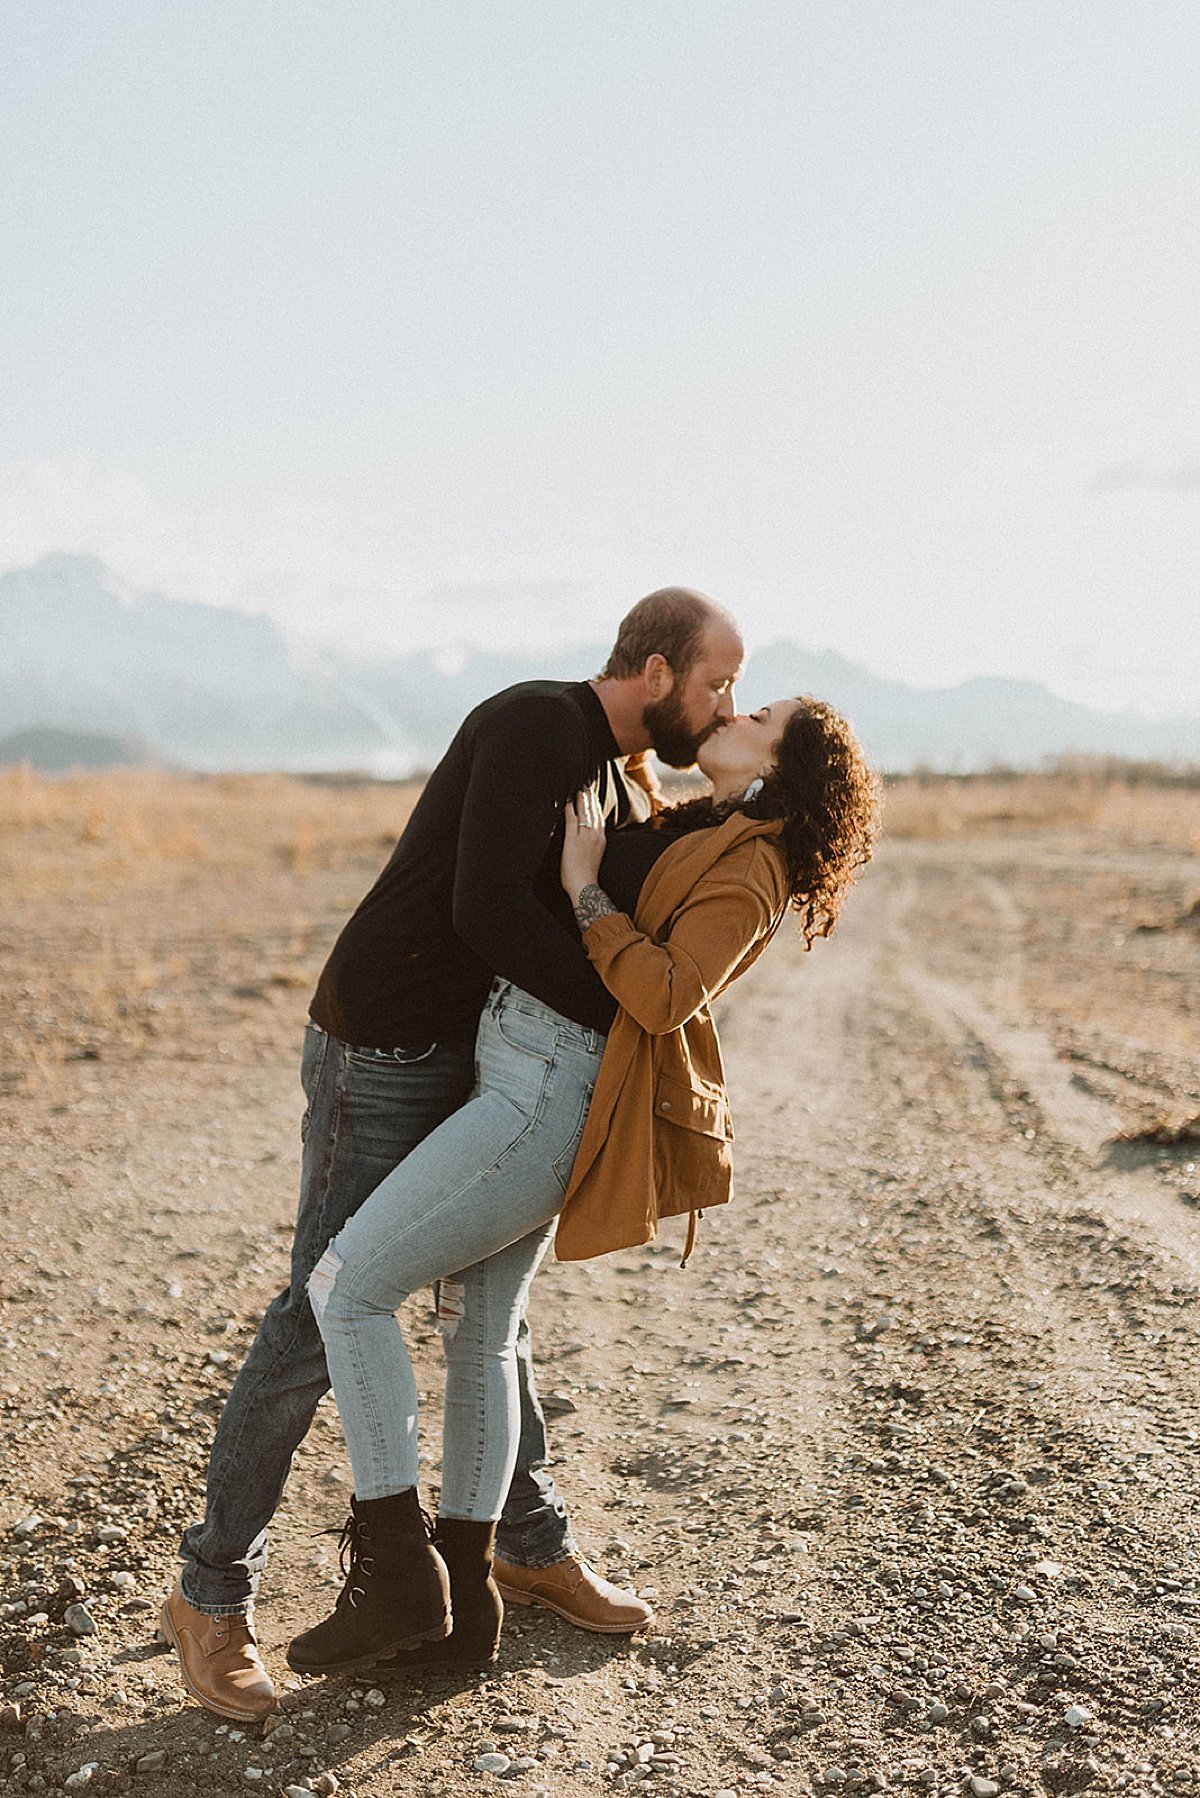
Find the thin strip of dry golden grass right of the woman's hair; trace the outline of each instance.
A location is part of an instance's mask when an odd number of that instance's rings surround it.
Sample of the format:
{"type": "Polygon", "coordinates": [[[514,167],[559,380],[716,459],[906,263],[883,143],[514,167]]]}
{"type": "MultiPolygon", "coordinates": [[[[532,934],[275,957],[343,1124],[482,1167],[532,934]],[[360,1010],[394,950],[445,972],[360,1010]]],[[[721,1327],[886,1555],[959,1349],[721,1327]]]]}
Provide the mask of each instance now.
{"type": "Polygon", "coordinates": [[[1200,789],[1081,770],[1045,775],[903,775],[887,782],[889,836],[1070,831],[1115,847],[1200,850],[1200,789]]]}

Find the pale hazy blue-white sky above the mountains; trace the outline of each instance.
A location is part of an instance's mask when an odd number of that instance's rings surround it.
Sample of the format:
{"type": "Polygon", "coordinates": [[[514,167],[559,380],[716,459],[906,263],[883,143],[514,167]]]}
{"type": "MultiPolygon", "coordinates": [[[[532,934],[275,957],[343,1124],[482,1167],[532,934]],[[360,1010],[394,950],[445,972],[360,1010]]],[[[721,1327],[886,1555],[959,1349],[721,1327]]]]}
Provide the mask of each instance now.
{"type": "Polygon", "coordinates": [[[0,11],[0,566],[1200,705],[1195,0],[0,11]]]}

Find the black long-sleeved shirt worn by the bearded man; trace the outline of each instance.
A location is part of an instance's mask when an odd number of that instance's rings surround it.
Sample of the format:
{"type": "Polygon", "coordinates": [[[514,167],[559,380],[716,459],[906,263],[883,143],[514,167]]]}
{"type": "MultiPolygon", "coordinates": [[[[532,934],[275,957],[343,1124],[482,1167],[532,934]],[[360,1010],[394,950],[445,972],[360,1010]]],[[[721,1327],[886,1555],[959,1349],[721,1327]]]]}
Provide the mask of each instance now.
{"type": "Polygon", "coordinates": [[[560,881],[563,806],[585,786],[610,829],[649,813],[587,681],[524,681],[475,707],[333,946],[313,1021],[363,1048],[471,1037],[502,975],[608,1030],[615,1001],[560,881]]]}

